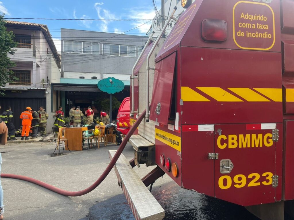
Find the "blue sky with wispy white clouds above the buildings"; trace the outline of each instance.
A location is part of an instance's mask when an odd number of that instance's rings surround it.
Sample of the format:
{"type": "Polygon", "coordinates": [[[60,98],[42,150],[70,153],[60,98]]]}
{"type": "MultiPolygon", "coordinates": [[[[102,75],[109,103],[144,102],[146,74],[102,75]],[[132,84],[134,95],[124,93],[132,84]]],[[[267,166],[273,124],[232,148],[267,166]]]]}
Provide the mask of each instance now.
{"type": "MultiPolygon", "coordinates": [[[[161,0],[155,3],[160,10],[161,0]]],[[[0,13],[5,13],[4,18],[153,19],[155,16],[152,0],[0,0],[0,13]]],[[[139,26],[126,34],[145,35],[151,26],[151,21],[13,21],[46,24],[58,51],[60,28],[123,33],[139,26]]]]}

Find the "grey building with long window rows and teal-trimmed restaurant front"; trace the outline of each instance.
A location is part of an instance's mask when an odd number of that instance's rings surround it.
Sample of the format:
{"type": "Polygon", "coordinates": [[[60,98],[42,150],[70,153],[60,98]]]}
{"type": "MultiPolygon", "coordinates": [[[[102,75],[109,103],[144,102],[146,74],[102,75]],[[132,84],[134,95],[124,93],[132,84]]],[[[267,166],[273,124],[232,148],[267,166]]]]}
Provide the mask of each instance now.
{"type": "MultiPolygon", "coordinates": [[[[95,106],[97,100],[109,97],[97,84],[101,79],[114,77],[125,88],[113,96],[122,101],[129,96],[130,75],[138,55],[147,41],[145,36],[81,31],[61,28],[61,79],[53,89],[61,94],[61,106],[66,114],[70,106],[95,106]]],[[[116,114],[112,114],[114,118],[116,114]]]]}

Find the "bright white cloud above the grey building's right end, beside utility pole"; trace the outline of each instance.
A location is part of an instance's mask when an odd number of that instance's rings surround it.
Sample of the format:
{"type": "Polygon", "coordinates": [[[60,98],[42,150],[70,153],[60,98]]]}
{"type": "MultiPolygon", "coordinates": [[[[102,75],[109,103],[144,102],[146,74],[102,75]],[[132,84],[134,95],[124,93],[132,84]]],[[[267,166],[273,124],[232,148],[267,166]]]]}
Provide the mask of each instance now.
{"type": "MultiPolygon", "coordinates": [[[[129,14],[128,14],[129,19],[153,19],[154,17],[155,17],[155,12],[153,9],[150,9],[150,10],[144,9],[140,11],[140,9],[138,8],[137,9],[133,8],[129,10],[129,14]]],[[[151,21],[148,23],[146,22],[147,21],[134,21],[132,25],[134,27],[140,26],[137,28],[137,30],[140,31],[141,33],[146,33],[152,24],[151,21]]]]}

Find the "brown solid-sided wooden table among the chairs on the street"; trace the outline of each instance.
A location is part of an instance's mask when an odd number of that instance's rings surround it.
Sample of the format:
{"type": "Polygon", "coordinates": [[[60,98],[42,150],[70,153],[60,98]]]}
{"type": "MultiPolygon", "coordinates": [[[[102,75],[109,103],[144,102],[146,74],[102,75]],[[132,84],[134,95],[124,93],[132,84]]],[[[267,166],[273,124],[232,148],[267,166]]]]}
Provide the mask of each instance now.
{"type": "Polygon", "coordinates": [[[64,136],[68,139],[68,150],[83,150],[83,131],[87,131],[87,127],[65,128],[64,136]]]}

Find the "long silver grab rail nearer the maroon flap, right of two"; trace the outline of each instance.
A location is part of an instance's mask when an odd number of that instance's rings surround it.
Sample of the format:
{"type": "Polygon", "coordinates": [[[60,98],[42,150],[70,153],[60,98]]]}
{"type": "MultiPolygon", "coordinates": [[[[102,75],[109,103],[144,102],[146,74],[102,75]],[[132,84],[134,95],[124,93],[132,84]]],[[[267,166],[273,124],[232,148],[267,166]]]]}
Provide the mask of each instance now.
{"type": "Polygon", "coordinates": [[[173,11],[171,12],[171,15],[168,17],[165,25],[163,26],[160,34],[158,35],[158,37],[156,38],[151,50],[149,51],[148,55],[147,55],[147,62],[146,62],[146,114],[145,114],[145,120],[146,122],[149,122],[149,116],[150,116],[150,113],[149,113],[149,71],[150,70],[155,70],[155,67],[150,67],[149,66],[149,60],[150,60],[150,57],[151,57],[151,54],[153,53],[156,45],[158,44],[161,36],[163,35],[163,33],[165,32],[166,30],[166,27],[168,26],[169,22],[171,21],[171,19],[173,19],[174,21],[178,21],[173,15],[174,13],[176,12],[177,10],[177,7],[174,7],[173,8],[173,11]]]}

